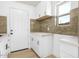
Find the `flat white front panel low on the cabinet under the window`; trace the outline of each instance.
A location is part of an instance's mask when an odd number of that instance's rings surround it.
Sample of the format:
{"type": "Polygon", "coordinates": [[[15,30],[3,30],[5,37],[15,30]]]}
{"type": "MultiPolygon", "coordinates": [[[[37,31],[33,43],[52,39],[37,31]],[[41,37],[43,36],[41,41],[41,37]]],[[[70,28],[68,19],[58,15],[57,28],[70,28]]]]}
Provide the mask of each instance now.
{"type": "Polygon", "coordinates": [[[78,46],[61,42],[60,57],[61,58],[78,58],[78,46]]]}

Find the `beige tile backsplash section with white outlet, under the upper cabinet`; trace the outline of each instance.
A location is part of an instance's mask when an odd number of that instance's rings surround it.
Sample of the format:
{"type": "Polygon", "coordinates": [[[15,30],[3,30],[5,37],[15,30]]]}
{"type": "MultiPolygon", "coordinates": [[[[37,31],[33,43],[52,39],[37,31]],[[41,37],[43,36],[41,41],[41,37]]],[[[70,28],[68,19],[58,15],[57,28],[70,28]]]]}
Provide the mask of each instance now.
{"type": "Polygon", "coordinates": [[[44,21],[40,22],[40,31],[41,32],[54,32],[54,27],[55,27],[55,21],[54,17],[48,18],[44,21]]]}

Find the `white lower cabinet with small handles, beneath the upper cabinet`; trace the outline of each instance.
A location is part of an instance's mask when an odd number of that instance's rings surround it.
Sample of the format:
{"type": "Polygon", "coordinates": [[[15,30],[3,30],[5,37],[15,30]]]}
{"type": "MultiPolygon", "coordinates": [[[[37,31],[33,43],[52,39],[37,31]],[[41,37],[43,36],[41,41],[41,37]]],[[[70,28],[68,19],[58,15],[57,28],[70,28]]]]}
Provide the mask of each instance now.
{"type": "Polygon", "coordinates": [[[52,36],[32,37],[31,47],[40,57],[51,55],[52,36]]]}

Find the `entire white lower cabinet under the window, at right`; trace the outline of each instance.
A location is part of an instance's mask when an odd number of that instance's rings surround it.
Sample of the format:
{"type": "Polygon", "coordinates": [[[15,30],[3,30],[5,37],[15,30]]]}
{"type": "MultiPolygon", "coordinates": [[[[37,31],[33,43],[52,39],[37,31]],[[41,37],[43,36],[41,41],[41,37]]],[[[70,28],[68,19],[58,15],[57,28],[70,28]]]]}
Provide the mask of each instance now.
{"type": "Polygon", "coordinates": [[[78,37],[54,34],[53,55],[58,58],[78,58],[78,37]]]}

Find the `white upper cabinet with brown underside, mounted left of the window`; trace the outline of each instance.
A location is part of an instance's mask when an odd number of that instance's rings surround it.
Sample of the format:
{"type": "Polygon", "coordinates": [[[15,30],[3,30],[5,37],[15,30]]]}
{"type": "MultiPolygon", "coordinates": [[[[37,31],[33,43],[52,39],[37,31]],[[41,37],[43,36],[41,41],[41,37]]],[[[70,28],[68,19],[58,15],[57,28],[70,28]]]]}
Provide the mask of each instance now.
{"type": "Polygon", "coordinates": [[[51,1],[42,1],[35,7],[35,19],[43,20],[51,17],[51,1]]]}

